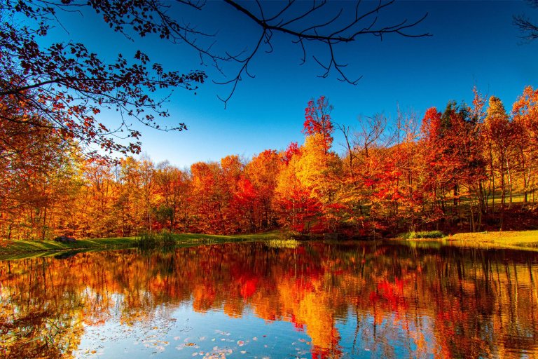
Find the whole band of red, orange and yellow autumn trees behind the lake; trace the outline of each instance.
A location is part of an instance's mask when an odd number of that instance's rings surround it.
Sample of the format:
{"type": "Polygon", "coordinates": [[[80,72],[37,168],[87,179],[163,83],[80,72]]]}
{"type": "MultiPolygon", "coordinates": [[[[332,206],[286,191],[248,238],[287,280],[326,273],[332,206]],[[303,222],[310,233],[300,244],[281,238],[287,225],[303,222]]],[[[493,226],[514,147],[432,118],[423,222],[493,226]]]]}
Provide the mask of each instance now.
{"type": "Polygon", "coordinates": [[[337,125],[319,97],[305,109],[303,144],[189,169],[88,158],[60,132],[0,120],[0,234],[506,229],[516,207],[536,215],[538,90],[525,88],[510,112],[474,93],[471,105],[430,108],[422,121],[399,114],[394,128],[383,116],[337,125]],[[345,139],[341,154],[335,130],[345,139]]]}

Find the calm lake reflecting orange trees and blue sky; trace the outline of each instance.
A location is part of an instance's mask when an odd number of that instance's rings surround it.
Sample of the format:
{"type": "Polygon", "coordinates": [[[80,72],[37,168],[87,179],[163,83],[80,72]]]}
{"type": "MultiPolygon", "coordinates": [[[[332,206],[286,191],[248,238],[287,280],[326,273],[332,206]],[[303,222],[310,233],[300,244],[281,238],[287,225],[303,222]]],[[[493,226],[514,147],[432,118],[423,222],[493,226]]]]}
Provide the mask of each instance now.
{"type": "Polygon", "coordinates": [[[538,255],[229,243],[0,262],[1,358],[536,358],[538,255]]]}

